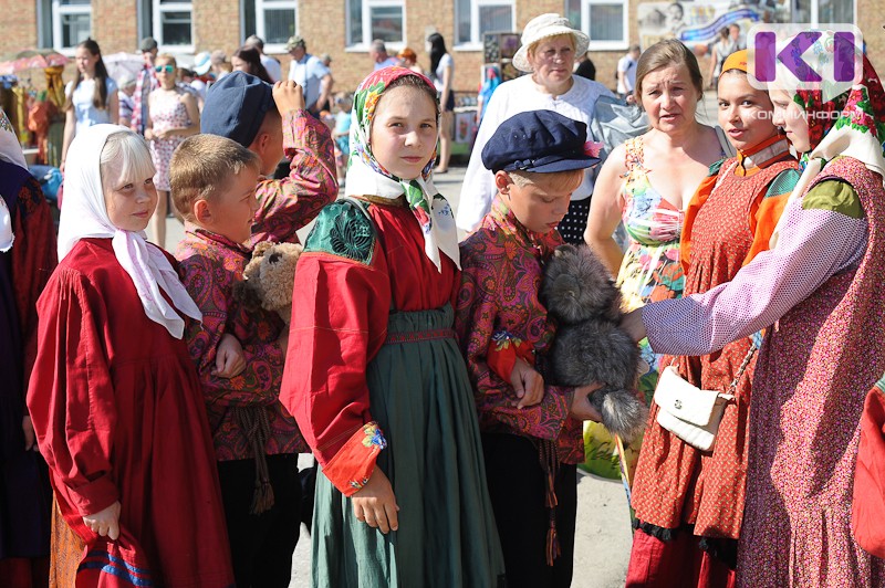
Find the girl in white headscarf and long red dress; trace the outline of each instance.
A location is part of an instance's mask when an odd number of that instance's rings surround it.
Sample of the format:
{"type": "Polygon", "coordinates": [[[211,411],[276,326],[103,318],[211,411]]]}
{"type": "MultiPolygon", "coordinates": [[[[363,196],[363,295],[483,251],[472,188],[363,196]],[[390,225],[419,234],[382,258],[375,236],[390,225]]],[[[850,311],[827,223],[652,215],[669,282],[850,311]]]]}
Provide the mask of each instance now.
{"type": "Polygon", "coordinates": [[[202,395],[181,338],[186,317],[200,313],[171,258],[143,232],[157,203],[154,171],[145,140],[115,125],[87,128],[69,154],[61,262],[38,302],[28,392],[58,501],[59,585],[101,585],[105,574],[233,582],[202,395]]]}

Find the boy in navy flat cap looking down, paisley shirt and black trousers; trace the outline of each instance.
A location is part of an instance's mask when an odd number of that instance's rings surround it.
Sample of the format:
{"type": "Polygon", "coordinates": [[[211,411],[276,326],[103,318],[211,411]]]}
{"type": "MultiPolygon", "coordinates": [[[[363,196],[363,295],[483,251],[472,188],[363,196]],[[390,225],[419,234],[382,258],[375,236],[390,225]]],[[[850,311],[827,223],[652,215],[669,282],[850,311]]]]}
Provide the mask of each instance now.
{"type": "Polygon", "coordinates": [[[597,386],[546,386],[534,370],[554,327],[538,300],[584,169],[598,162],[586,125],[553,111],[506,120],[482,149],[498,195],[461,243],[456,329],[473,384],[486,474],[508,586],[568,587],[582,420],[597,386]],[[518,513],[518,514],[517,514],[518,513]]]}

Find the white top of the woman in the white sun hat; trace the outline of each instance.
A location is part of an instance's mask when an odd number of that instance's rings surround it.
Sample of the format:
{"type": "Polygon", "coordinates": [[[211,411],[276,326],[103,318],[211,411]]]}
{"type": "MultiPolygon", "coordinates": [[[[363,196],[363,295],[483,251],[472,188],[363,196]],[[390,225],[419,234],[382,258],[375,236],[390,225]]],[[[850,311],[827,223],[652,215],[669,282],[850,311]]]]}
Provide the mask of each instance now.
{"type": "MultiPolygon", "coordinates": [[[[489,99],[482,123],[477,132],[477,141],[470,153],[470,162],[464,178],[461,197],[458,202],[458,227],[465,231],[472,231],[491,208],[491,201],[497,193],[494,188],[494,174],[482,165],[482,148],[498,129],[498,126],[511,116],[529,111],[555,111],[573,120],[580,120],[590,127],[596,98],[612,92],[600,84],[581,76],[572,76],[572,88],[554,98],[550,94],[539,92],[531,75],[523,75],[510,82],[504,82],[489,99]]],[[[591,140],[587,128],[587,140],[591,140]]],[[[584,181],[572,195],[572,200],[585,200],[593,195],[593,180],[597,168],[589,169],[584,174],[584,181]]]]}

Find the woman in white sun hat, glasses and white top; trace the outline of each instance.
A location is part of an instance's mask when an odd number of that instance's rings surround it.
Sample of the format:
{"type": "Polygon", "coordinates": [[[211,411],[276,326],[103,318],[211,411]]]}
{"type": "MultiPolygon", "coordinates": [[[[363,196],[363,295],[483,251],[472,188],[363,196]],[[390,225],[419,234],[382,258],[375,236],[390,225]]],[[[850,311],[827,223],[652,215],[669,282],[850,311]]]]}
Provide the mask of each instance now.
{"type": "MultiPolygon", "coordinates": [[[[548,109],[590,126],[596,98],[602,94],[614,97],[598,82],[572,75],[575,56],[586,53],[589,42],[586,34],[572,29],[569,19],[559,14],[541,14],[525,25],[513,66],[530,75],[501,84],[489,99],[461,188],[456,219],[459,228],[472,231],[489,211],[496,193],[494,176],[482,166],[480,154],[501,123],[519,113],[548,109]]],[[[585,172],[560,223],[560,233],[569,243],[583,242],[595,175],[592,169],[585,172]]]]}

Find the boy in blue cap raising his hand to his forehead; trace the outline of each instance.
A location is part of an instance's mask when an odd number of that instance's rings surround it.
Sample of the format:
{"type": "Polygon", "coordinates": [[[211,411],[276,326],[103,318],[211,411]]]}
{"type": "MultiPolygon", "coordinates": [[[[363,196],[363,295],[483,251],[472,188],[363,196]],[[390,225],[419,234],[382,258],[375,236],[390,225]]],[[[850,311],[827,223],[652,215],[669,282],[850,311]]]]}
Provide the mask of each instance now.
{"type": "Polygon", "coordinates": [[[330,130],[308,113],[303,91],[292,81],[271,86],[243,72],[226,75],[206,95],[200,132],[233,139],[261,159],[253,245],[298,243],[295,231],[337,198],[330,130]],[[291,161],[289,176],[272,179],[283,157],[291,161]]]}

